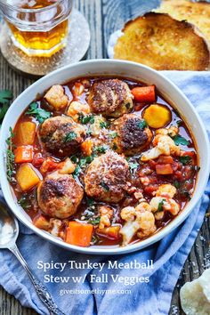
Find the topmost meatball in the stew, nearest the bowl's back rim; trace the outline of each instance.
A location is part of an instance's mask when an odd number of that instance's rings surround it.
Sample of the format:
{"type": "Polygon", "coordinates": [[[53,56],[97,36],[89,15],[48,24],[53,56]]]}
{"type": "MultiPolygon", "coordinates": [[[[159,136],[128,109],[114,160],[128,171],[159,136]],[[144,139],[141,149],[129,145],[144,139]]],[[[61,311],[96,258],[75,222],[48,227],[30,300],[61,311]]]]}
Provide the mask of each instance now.
{"type": "Polygon", "coordinates": [[[93,84],[88,103],[93,113],[120,117],[133,109],[133,95],[121,80],[102,80],[93,84]]]}

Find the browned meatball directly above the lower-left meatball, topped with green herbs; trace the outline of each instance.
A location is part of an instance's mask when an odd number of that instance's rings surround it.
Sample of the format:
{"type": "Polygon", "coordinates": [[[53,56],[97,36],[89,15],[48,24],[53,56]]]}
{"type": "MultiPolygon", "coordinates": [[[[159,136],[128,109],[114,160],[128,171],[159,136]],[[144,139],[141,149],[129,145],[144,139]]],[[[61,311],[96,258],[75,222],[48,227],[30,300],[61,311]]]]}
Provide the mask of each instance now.
{"type": "Polygon", "coordinates": [[[85,127],[77,124],[71,117],[51,117],[40,126],[39,139],[44,149],[54,155],[66,157],[75,153],[85,140],[85,127]]]}

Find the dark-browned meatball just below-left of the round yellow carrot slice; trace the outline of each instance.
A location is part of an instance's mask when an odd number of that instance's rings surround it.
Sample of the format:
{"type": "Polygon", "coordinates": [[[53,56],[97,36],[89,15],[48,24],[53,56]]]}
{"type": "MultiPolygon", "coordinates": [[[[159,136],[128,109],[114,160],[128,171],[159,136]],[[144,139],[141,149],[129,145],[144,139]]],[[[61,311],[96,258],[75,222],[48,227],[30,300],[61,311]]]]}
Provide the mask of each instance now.
{"type": "Polygon", "coordinates": [[[135,114],[125,114],[114,121],[111,126],[117,136],[113,139],[112,147],[118,153],[134,155],[141,153],[149,145],[152,133],[141,117],[135,114]]]}

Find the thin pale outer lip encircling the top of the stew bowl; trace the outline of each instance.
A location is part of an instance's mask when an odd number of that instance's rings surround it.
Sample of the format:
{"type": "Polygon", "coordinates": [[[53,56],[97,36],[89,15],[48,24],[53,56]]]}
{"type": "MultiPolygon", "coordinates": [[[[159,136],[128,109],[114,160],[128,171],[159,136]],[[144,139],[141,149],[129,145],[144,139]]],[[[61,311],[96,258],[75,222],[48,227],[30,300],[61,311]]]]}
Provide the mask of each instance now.
{"type": "MultiPolygon", "coordinates": [[[[194,107],[192,106],[192,104],[188,100],[188,98],[184,95],[184,93],[182,93],[182,91],[176,85],[174,85],[174,83],[170,79],[168,79],[167,77],[165,77],[163,74],[161,74],[160,72],[158,72],[155,69],[150,69],[149,67],[147,67],[145,65],[142,65],[140,63],[136,63],[133,61],[97,59],[97,60],[88,60],[88,61],[76,62],[76,63],[70,64],[70,65],[67,65],[65,67],[62,67],[61,69],[57,69],[55,71],[52,71],[48,75],[37,80],[32,85],[29,85],[26,90],[24,90],[22,93],[20,93],[20,95],[14,101],[12,101],[12,105],[11,105],[10,109],[8,109],[8,111],[4,117],[4,121],[2,124],[2,128],[1,128],[1,133],[5,132],[4,129],[5,129],[6,122],[8,119],[10,119],[9,117],[12,116],[12,110],[15,107],[16,102],[18,102],[21,99],[23,94],[26,94],[29,91],[33,90],[36,85],[41,86],[42,83],[44,81],[46,81],[49,77],[54,77],[57,74],[62,73],[62,71],[65,71],[66,69],[70,70],[71,68],[77,67],[78,65],[80,65],[80,67],[82,67],[83,65],[86,65],[86,64],[88,64],[91,67],[91,65],[94,63],[96,63],[96,64],[97,63],[104,63],[104,64],[109,64],[109,65],[114,65],[114,64],[125,65],[126,64],[127,66],[133,65],[137,68],[140,68],[141,70],[149,71],[151,74],[154,74],[156,77],[159,77],[161,80],[163,80],[167,84],[171,85],[171,88],[174,89],[174,92],[179,93],[182,96],[183,101],[186,102],[189,109],[193,112],[193,115],[195,115],[198,119],[199,127],[201,128],[201,131],[203,133],[204,145],[206,147],[206,155],[207,155],[207,161],[206,161],[206,166],[205,166],[206,167],[206,173],[204,175],[204,178],[202,178],[202,182],[201,182],[201,185],[199,186],[198,193],[197,193],[197,187],[196,187],[194,190],[193,197],[191,198],[189,204],[184,208],[184,211],[182,211],[181,214],[179,214],[177,217],[175,217],[172,222],[167,224],[165,228],[159,230],[156,234],[153,234],[149,238],[146,238],[142,241],[139,241],[139,242],[136,242],[132,245],[128,245],[128,246],[124,246],[124,247],[119,247],[119,246],[80,247],[80,246],[74,246],[74,245],[70,245],[68,243],[65,243],[63,240],[61,240],[61,238],[53,237],[50,233],[48,233],[44,230],[37,229],[36,226],[33,225],[32,222],[29,222],[29,220],[27,218],[25,218],[25,220],[23,220],[21,218],[20,211],[17,211],[18,206],[15,204],[14,198],[13,197],[11,198],[11,196],[10,196],[10,195],[12,195],[12,190],[8,194],[8,190],[6,188],[6,186],[8,186],[8,181],[6,178],[6,174],[4,172],[4,149],[1,149],[1,148],[4,148],[4,141],[3,141],[4,137],[0,137],[0,152],[2,151],[2,154],[0,154],[0,169],[3,170],[2,171],[3,175],[0,176],[0,184],[1,184],[3,194],[4,194],[4,198],[5,198],[8,206],[11,208],[12,213],[20,220],[20,222],[22,222],[25,226],[27,226],[28,229],[35,232],[36,235],[50,241],[54,245],[61,246],[65,249],[72,250],[74,252],[82,253],[82,254],[126,254],[126,253],[132,253],[134,251],[141,250],[147,246],[151,246],[152,244],[158,242],[160,239],[165,238],[167,234],[169,234],[174,229],[176,229],[180,224],[182,224],[182,222],[190,215],[190,213],[193,211],[194,207],[198,204],[198,201],[201,198],[201,196],[202,196],[202,194],[206,188],[206,183],[208,180],[208,174],[210,171],[210,146],[209,146],[208,136],[207,136],[204,124],[203,124],[201,118],[198,116],[197,111],[194,109],[194,107]],[[7,183],[7,185],[4,185],[4,183],[7,183]]],[[[113,70],[113,73],[114,73],[114,70],[113,70]]],[[[99,73],[99,75],[100,75],[100,73],[99,73]]],[[[70,77],[71,76],[69,73],[69,79],[70,79],[70,77]]],[[[81,76],[79,76],[79,77],[81,77],[81,76]]],[[[130,76],[130,77],[132,77],[132,76],[130,76]]],[[[63,80],[63,82],[65,82],[65,80],[63,80]]],[[[196,141],[196,139],[195,139],[195,141],[196,141]]]]}

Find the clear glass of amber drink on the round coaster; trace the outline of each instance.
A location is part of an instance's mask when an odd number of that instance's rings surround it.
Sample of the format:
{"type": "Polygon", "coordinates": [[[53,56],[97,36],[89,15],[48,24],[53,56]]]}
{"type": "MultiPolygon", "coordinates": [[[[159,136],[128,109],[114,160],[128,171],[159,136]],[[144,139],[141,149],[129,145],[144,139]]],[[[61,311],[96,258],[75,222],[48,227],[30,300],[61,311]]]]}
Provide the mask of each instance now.
{"type": "Polygon", "coordinates": [[[51,57],[69,34],[73,0],[0,0],[12,42],[28,56],[51,57]]]}

